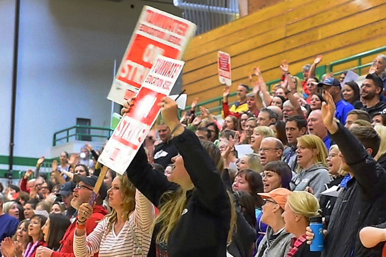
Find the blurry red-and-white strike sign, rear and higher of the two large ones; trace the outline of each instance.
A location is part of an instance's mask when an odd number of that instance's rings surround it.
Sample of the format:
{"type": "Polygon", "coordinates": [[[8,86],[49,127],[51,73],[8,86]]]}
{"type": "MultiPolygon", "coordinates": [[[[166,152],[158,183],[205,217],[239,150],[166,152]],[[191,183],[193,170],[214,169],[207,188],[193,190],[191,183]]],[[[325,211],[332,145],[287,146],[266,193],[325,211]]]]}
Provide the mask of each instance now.
{"type": "Polygon", "coordinates": [[[144,6],[107,98],[124,104],[135,96],[158,55],[180,60],[196,25],[144,6]]]}

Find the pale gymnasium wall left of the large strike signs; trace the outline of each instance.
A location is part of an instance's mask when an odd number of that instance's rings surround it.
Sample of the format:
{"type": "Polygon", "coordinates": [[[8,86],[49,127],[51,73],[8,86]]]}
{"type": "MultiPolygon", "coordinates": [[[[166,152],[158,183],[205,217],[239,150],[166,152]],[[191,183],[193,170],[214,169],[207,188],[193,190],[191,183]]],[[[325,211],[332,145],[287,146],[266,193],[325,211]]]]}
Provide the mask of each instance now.
{"type": "MultiPolygon", "coordinates": [[[[0,155],[9,153],[14,2],[0,0],[0,155]]],[[[113,61],[119,65],[143,5],[181,16],[168,3],[21,1],[15,156],[50,156],[53,133],[77,117],[109,126],[113,61]]]]}

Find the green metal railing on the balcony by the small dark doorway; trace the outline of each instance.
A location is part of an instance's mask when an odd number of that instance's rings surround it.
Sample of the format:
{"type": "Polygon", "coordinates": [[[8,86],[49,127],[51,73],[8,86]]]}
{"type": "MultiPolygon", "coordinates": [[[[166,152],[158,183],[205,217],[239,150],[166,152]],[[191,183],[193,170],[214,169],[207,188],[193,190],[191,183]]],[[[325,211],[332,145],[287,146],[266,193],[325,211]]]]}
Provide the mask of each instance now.
{"type": "Polygon", "coordinates": [[[97,138],[108,138],[111,136],[111,133],[114,131],[112,128],[104,128],[104,127],[94,127],[94,126],[83,126],[83,125],[75,125],[66,129],[62,129],[60,131],[57,131],[54,133],[54,138],[52,139],[52,146],[56,146],[56,142],[66,139],[66,142],[69,141],[69,138],[75,137],[85,137],[85,138],[91,138],[97,137],[97,138]],[[70,133],[70,130],[75,129],[74,133],[70,133]],[[91,134],[91,133],[78,133],[76,132],[76,129],[89,129],[89,130],[99,130],[99,131],[108,131],[108,134],[91,134]],[[58,134],[66,133],[66,136],[62,136],[58,138],[58,134]]]}

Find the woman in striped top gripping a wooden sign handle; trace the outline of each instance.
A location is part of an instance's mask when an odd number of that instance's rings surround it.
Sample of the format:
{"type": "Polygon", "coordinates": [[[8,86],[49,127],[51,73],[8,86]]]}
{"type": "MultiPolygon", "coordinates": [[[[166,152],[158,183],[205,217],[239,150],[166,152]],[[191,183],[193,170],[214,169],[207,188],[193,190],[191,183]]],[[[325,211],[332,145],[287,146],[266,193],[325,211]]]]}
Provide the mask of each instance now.
{"type": "Polygon", "coordinates": [[[88,203],[80,206],[74,255],[89,257],[99,252],[100,257],[146,256],[154,220],[153,205],[135,190],[126,175],[116,176],[107,194],[113,211],[87,236],[84,224],[91,217],[92,207],[88,203]]]}

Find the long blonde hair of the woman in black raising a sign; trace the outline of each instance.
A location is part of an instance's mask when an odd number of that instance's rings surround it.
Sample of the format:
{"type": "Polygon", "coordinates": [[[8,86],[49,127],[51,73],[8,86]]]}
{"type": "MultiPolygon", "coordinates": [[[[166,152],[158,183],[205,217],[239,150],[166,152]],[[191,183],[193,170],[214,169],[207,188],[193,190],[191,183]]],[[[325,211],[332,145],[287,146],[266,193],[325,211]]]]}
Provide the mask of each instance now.
{"type": "MultiPolygon", "coordinates": [[[[230,202],[230,228],[227,240],[227,243],[229,244],[232,241],[232,235],[236,229],[237,217],[234,198],[229,191],[227,191],[227,195],[230,202]]],[[[188,203],[188,199],[186,198],[186,190],[183,190],[181,187],[174,192],[168,191],[164,193],[161,198],[166,202],[159,209],[159,214],[154,221],[154,226],[159,224],[161,227],[157,234],[156,242],[168,243],[169,235],[181,218],[182,212],[188,203]]]]}

